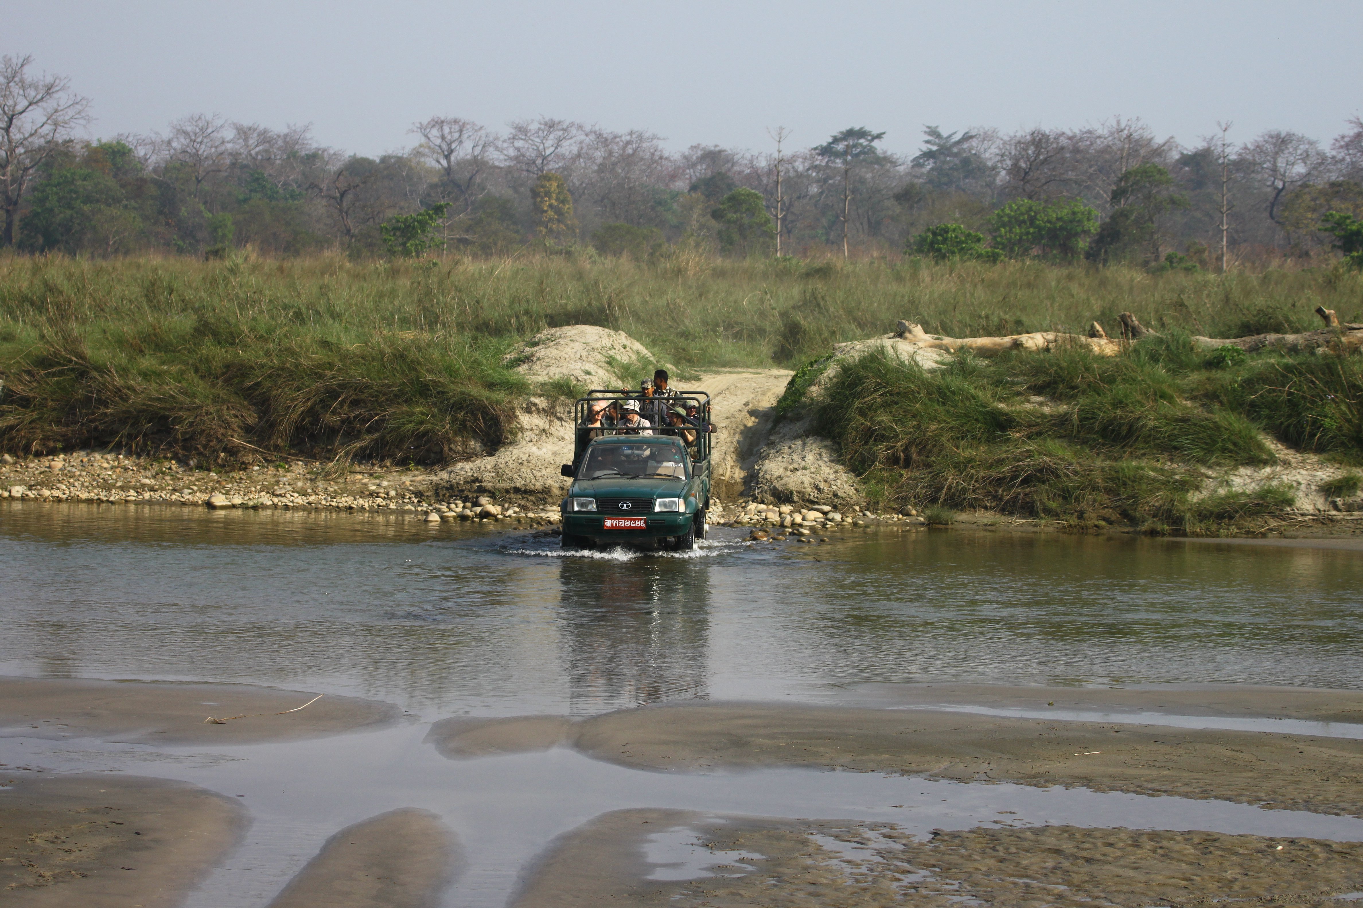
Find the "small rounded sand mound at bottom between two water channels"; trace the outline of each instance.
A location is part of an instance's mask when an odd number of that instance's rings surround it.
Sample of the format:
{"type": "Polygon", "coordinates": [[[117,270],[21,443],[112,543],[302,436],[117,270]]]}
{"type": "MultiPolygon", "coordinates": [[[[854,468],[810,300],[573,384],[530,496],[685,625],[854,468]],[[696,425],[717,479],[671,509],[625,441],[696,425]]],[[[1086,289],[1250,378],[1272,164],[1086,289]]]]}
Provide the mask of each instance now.
{"type": "Polygon", "coordinates": [[[429,908],[462,869],[457,848],[431,811],[390,810],[331,836],[270,908],[429,908]]]}

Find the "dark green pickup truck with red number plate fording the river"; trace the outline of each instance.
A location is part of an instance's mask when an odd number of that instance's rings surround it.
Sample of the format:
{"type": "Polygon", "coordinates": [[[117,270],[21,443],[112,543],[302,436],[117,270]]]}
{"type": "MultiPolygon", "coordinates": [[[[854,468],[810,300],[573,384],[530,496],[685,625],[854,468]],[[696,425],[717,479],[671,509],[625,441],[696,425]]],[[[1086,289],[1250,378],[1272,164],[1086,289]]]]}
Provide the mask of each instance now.
{"type": "Polygon", "coordinates": [[[563,547],[694,549],[695,540],[705,536],[710,505],[710,396],[683,391],[676,398],[639,399],[592,391],[574,406],[572,423],[572,463],[563,466],[563,475],[572,478],[562,506],[563,547]],[[645,418],[688,404],[695,404],[696,412],[684,426],[642,432],[624,425],[587,425],[593,406],[627,399],[639,400],[645,418]]]}

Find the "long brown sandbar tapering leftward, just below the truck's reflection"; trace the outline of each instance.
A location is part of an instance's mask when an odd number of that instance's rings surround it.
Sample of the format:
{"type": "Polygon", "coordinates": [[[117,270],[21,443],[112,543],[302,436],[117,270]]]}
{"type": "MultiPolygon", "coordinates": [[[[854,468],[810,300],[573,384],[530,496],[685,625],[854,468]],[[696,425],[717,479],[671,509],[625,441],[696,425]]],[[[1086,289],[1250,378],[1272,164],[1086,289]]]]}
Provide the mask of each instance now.
{"type": "MultiPolygon", "coordinates": [[[[1317,705],[1308,694],[1285,694],[1287,701],[1298,701],[1298,709],[1278,715],[1352,717],[1352,709],[1363,704],[1363,694],[1353,692],[1322,693],[1329,698],[1317,705]]],[[[1232,700],[1231,694],[1225,698],[1232,700]]],[[[1146,702],[1161,701],[1168,698],[1146,702]]],[[[643,769],[804,765],[1214,798],[1363,817],[1363,741],[1296,734],[931,709],[707,702],[642,707],[566,724],[544,716],[525,724],[455,719],[432,726],[427,739],[451,758],[559,743],[643,769]]]]}

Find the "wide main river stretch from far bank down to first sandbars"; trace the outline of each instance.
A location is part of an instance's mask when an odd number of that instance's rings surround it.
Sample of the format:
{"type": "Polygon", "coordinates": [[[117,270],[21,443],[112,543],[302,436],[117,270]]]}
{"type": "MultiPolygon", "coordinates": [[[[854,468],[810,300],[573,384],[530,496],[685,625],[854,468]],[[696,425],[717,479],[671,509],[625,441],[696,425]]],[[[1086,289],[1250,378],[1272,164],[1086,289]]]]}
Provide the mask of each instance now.
{"type": "Polygon", "coordinates": [[[413,517],[0,506],[0,674],[237,681],[423,716],[859,682],[1363,687],[1363,551],[845,531],[688,557],[413,517]]]}

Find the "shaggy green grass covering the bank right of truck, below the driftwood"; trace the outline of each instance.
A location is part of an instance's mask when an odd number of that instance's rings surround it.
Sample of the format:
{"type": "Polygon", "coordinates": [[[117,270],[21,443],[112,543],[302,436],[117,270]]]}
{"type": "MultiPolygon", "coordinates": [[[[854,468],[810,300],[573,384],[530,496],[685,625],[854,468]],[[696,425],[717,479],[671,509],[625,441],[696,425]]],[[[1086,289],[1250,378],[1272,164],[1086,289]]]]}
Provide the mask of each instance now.
{"type": "Polygon", "coordinates": [[[957,357],[936,370],[870,354],[829,383],[818,427],[882,504],[1210,532],[1293,504],[1281,486],[1204,491],[1208,467],[1273,460],[1261,429],[1292,432],[1227,402],[1262,395],[1264,376],[1293,369],[1313,370],[1322,396],[1344,389],[1356,363],[1325,359],[1262,355],[1208,370],[1176,336],[1119,357],[957,357]]]}

